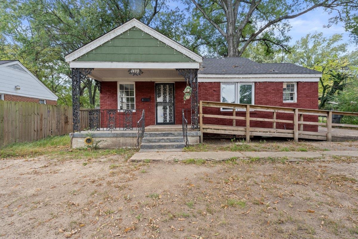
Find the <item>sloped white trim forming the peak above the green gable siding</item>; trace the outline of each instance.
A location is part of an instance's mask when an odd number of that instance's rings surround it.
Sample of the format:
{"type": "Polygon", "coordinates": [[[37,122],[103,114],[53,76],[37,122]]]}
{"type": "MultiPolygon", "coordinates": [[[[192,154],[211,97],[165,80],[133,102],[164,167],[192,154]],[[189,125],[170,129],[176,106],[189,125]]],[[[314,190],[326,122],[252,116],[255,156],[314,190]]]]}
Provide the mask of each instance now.
{"type": "Polygon", "coordinates": [[[112,38],[124,33],[125,31],[131,29],[132,27],[137,27],[143,32],[155,37],[156,39],[160,40],[161,42],[167,44],[168,46],[174,48],[176,51],[183,53],[184,55],[192,58],[194,61],[199,63],[203,62],[203,57],[199,56],[197,53],[190,51],[188,48],[180,45],[175,40],[166,37],[165,35],[159,33],[158,31],[154,30],[153,28],[145,25],[141,21],[133,18],[132,20],[127,21],[126,23],[120,25],[119,27],[111,30],[110,32],[102,35],[101,37],[93,40],[92,42],[87,43],[83,47],[78,48],[76,51],[69,53],[65,56],[66,62],[74,61],[80,56],[83,56],[89,51],[92,51],[96,47],[101,46],[103,43],[108,42],[112,38]]]}

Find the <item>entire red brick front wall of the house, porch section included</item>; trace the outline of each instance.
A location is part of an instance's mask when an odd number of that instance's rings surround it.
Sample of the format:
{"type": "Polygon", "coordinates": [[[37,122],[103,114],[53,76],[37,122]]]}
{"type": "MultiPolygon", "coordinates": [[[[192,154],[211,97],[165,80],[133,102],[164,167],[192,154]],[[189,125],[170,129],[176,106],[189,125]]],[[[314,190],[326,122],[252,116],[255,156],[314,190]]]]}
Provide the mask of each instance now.
{"type": "MultiPolygon", "coordinates": [[[[184,103],[184,89],[186,82],[175,82],[175,124],[182,124],[182,109],[190,109],[190,100],[184,103]]],[[[255,104],[271,105],[282,107],[299,107],[307,109],[318,109],[318,83],[317,82],[298,82],[297,83],[297,102],[284,103],[282,101],[283,82],[256,82],[255,83],[255,104]]],[[[145,125],[155,124],[155,83],[154,82],[135,82],[136,109],[145,110],[145,125]],[[141,98],[150,98],[149,102],[142,102],[141,98]]],[[[199,100],[220,101],[220,82],[201,82],[199,83],[199,100]]],[[[117,109],[117,82],[101,82],[100,94],[101,109],[117,109]]],[[[219,108],[205,108],[204,113],[232,115],[232,112],[220,111],[219,108]]],[[[117,113],[119,116],[120,113],[117,113]]],[[[122,113],[121,113],[122,114],[122,113]]],[[[141,111],[133,113],[133,126],[136,127],[137,120],[140,119],[141,111]]],[[[185,111],[188,124],[190,124],[190,111],[185,111]]],[[[237,112],[237,116],[245,116],[245,112],[237,112]]],[[[252,111],[252,117],[270,118],[272,113],[252,111]]],[[[117,117],[118,117],[117,116],[117,117]]],[[[120,116],[123,118],[123,116],[120,116]]],[[[292,120],[292,114],[277,113],[277,119],[292,120]]],[[[304,115],[305,121],[317,121],[317,116],[304,115]]],[[[204,123],[232,125],[232,120],[204,118],[204,123]]],[[[102,119],[102,126],[106,124],[102,119]]],[[[117,120],[117,127],[120,123],[117,120]]],[[[237,120],[236,125],[245,126],[244,120],[237,120]]],[[[272,123],[267,121],[251,121],[252,126],[271,128],[272,123]]],[[[120,127],[122,127],[121,125],[120,127]]],[[[293,129],[292,124],[276,123],[277,129],[293,129]]],[[[304,130],[317,131],[318,126],[304,125],[304,130]]]]}

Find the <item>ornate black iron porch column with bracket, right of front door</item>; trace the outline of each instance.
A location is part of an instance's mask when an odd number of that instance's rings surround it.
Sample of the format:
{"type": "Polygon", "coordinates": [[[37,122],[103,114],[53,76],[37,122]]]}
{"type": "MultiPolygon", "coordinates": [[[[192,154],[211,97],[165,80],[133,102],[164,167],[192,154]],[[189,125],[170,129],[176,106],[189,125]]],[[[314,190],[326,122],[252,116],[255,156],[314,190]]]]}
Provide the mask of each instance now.
{"type": "Polygon", "coordinates": [[[198,69],[176,69],[192,87],[191,109],[192,129],[198,129],[198,69]]]}

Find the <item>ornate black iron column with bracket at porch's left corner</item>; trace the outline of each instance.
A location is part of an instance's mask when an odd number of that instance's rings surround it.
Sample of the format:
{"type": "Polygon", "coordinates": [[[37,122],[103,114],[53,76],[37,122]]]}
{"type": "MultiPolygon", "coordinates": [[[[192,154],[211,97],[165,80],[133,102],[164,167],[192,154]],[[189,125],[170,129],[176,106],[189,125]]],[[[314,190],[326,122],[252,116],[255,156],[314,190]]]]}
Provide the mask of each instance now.
{"type": "Polygon", "coordinates": [[[79,89],[83,80],[93,68],[71,68],[72,70],[72,113],[73,113],[73,132],[80,130],[79,120],[79,89]]]}

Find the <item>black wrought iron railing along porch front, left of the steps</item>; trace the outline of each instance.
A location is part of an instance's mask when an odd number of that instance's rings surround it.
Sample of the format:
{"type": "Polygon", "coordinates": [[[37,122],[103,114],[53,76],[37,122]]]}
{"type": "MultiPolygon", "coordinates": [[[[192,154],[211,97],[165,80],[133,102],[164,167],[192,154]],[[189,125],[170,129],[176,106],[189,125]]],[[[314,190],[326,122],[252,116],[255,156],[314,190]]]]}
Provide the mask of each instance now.
{"type": "Polygon", "coordinates": [[[80,110],[80,131],[136,130],[144,110],[91,109],[80,110]]]}

